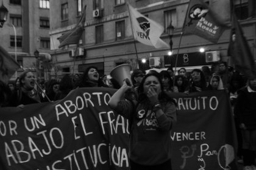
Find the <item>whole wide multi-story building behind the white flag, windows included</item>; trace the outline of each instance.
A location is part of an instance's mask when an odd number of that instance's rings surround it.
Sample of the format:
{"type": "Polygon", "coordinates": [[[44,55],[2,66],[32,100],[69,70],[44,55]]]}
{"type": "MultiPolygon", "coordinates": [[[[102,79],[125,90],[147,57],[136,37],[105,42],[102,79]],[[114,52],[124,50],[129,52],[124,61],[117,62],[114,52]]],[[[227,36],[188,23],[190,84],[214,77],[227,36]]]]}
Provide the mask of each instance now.
{"type": "MultiPolygon", "coordinates": [[[[247,0],[234,2],[236,14],[255,58],[256,19],[248,18],[247,0]]],[[[174,67],[178,48],[178,67],[192,68],[212,64],[215,57],[213,61],[205,60],[205,52],[198,52],[201,47],[212,55],[219,53],[223,61],[230,61],[227,56],[230,29],[224,31],[217,44],[197,35],[183,35],[180,41],[188,0],[62,0],[50,1],[50,4],[52,62],[55,65],[55,72],[59,75],[81,73],[88,66],[96,66],[102,74],[108,75],[115,66],[123,63],[130,63],[133,68],[137,68],[138,64],[142,69],[174,67]],[[165,32],[161,38],[166,43],[169,43],[167,27],[172,23],[175,30],[172,36],[173,54],[171,56],[168,56],[169,48],[155,49],[133,41],[126,2],[129,2],[138,12],[163,25],[165,32]],[[77,49],[78,56],[74,58],[77,46],[69,45],[59,49],[60,42],[57,38],[76,26],[84,5],[87,6],[84,33],[77,49]],[[143,58],[148,62],[141,63],[143,58]]]]}

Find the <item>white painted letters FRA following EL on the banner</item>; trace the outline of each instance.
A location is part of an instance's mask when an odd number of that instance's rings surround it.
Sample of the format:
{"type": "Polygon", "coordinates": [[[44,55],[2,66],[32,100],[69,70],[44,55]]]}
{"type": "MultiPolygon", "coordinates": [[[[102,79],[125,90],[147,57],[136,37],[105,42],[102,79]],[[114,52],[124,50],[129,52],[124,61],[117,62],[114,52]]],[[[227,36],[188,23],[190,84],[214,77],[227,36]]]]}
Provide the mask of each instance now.
{"type": "Polygon", "coordinates": [[[121,115],[118,115],[118,117],[116,118],[115,121],[115,117],[114,117],[114,112],[111,110],[109,112],[100,112],[99,113],[99,120],[101,121],[101,128],[102,128],[102,132],[105,135],[105,125],[107,124],[108,127],[110,127],[110,134],[117,134],[118,133],[118,127],[121,126],[122,130],[123,130],[123,134],[130,134],[129,133],[129,122],[127,120],[127,122],[124,121],[124,118],[121,118],[121,122],[119,122],[120,118],[122,117],[121,115]],[[108,121],[104,120],[104,114],[107,114],[107,118],[108,121]],[[113,115],[113,116],[111,116],[113,115]]]}

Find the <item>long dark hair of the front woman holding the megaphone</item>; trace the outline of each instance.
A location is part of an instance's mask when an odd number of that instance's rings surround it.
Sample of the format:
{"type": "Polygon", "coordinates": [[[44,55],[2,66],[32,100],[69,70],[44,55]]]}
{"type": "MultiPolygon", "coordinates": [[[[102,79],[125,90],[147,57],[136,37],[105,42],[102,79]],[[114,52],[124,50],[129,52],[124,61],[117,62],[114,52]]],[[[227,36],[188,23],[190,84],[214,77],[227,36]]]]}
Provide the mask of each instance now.
{"type": "Polygon", "coordinates": [[[140,103],[140,101],[146,100],[146,98],[148,98],[146,96],[146,94],[144,94],[144,83],[146,81],[146,78],[148,78],[150,76],[154,76],[155,78],[157,78],[157,80],[160,83],[161,92],[158,95],[158,100],[160,100],[160,101],[172,101],[172,103],[176,104],[176,102],[173,100],[173,98],[169,97],[169,95],[167,95],[163,91],[163,83],[160,79],[160,73],[158,73],[158,72],[151,72],[151,73],[146,74],[146,76],[141,81],[140,86],[138,87],[138,103],[140,103]]]}

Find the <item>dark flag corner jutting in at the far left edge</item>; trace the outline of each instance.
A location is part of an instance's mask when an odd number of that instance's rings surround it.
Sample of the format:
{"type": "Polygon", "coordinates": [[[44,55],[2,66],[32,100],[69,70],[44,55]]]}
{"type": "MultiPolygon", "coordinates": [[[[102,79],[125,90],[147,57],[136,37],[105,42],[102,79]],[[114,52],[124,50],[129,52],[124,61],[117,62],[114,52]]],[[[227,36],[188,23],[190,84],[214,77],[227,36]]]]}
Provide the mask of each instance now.
{"type": "Polygon", "coordinates": [[[0,46],[0,80],[7,83],[20,65],[0,46]]]}

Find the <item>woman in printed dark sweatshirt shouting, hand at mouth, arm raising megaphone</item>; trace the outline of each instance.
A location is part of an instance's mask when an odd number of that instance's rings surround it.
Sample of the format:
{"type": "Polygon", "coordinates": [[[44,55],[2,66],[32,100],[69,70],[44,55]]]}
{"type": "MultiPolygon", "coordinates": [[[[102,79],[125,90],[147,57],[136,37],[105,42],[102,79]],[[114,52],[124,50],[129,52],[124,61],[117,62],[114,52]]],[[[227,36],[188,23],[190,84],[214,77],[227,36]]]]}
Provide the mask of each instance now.
{"type": "Polygon", "coordinates": [[[159,73],[148,73],[143,78],[135,103],[123,99],[131,88],[124,81],[108,102],[108,106],[130,120],[130,168],[170,170],[175,101],[163,92],[159,73]]]}

